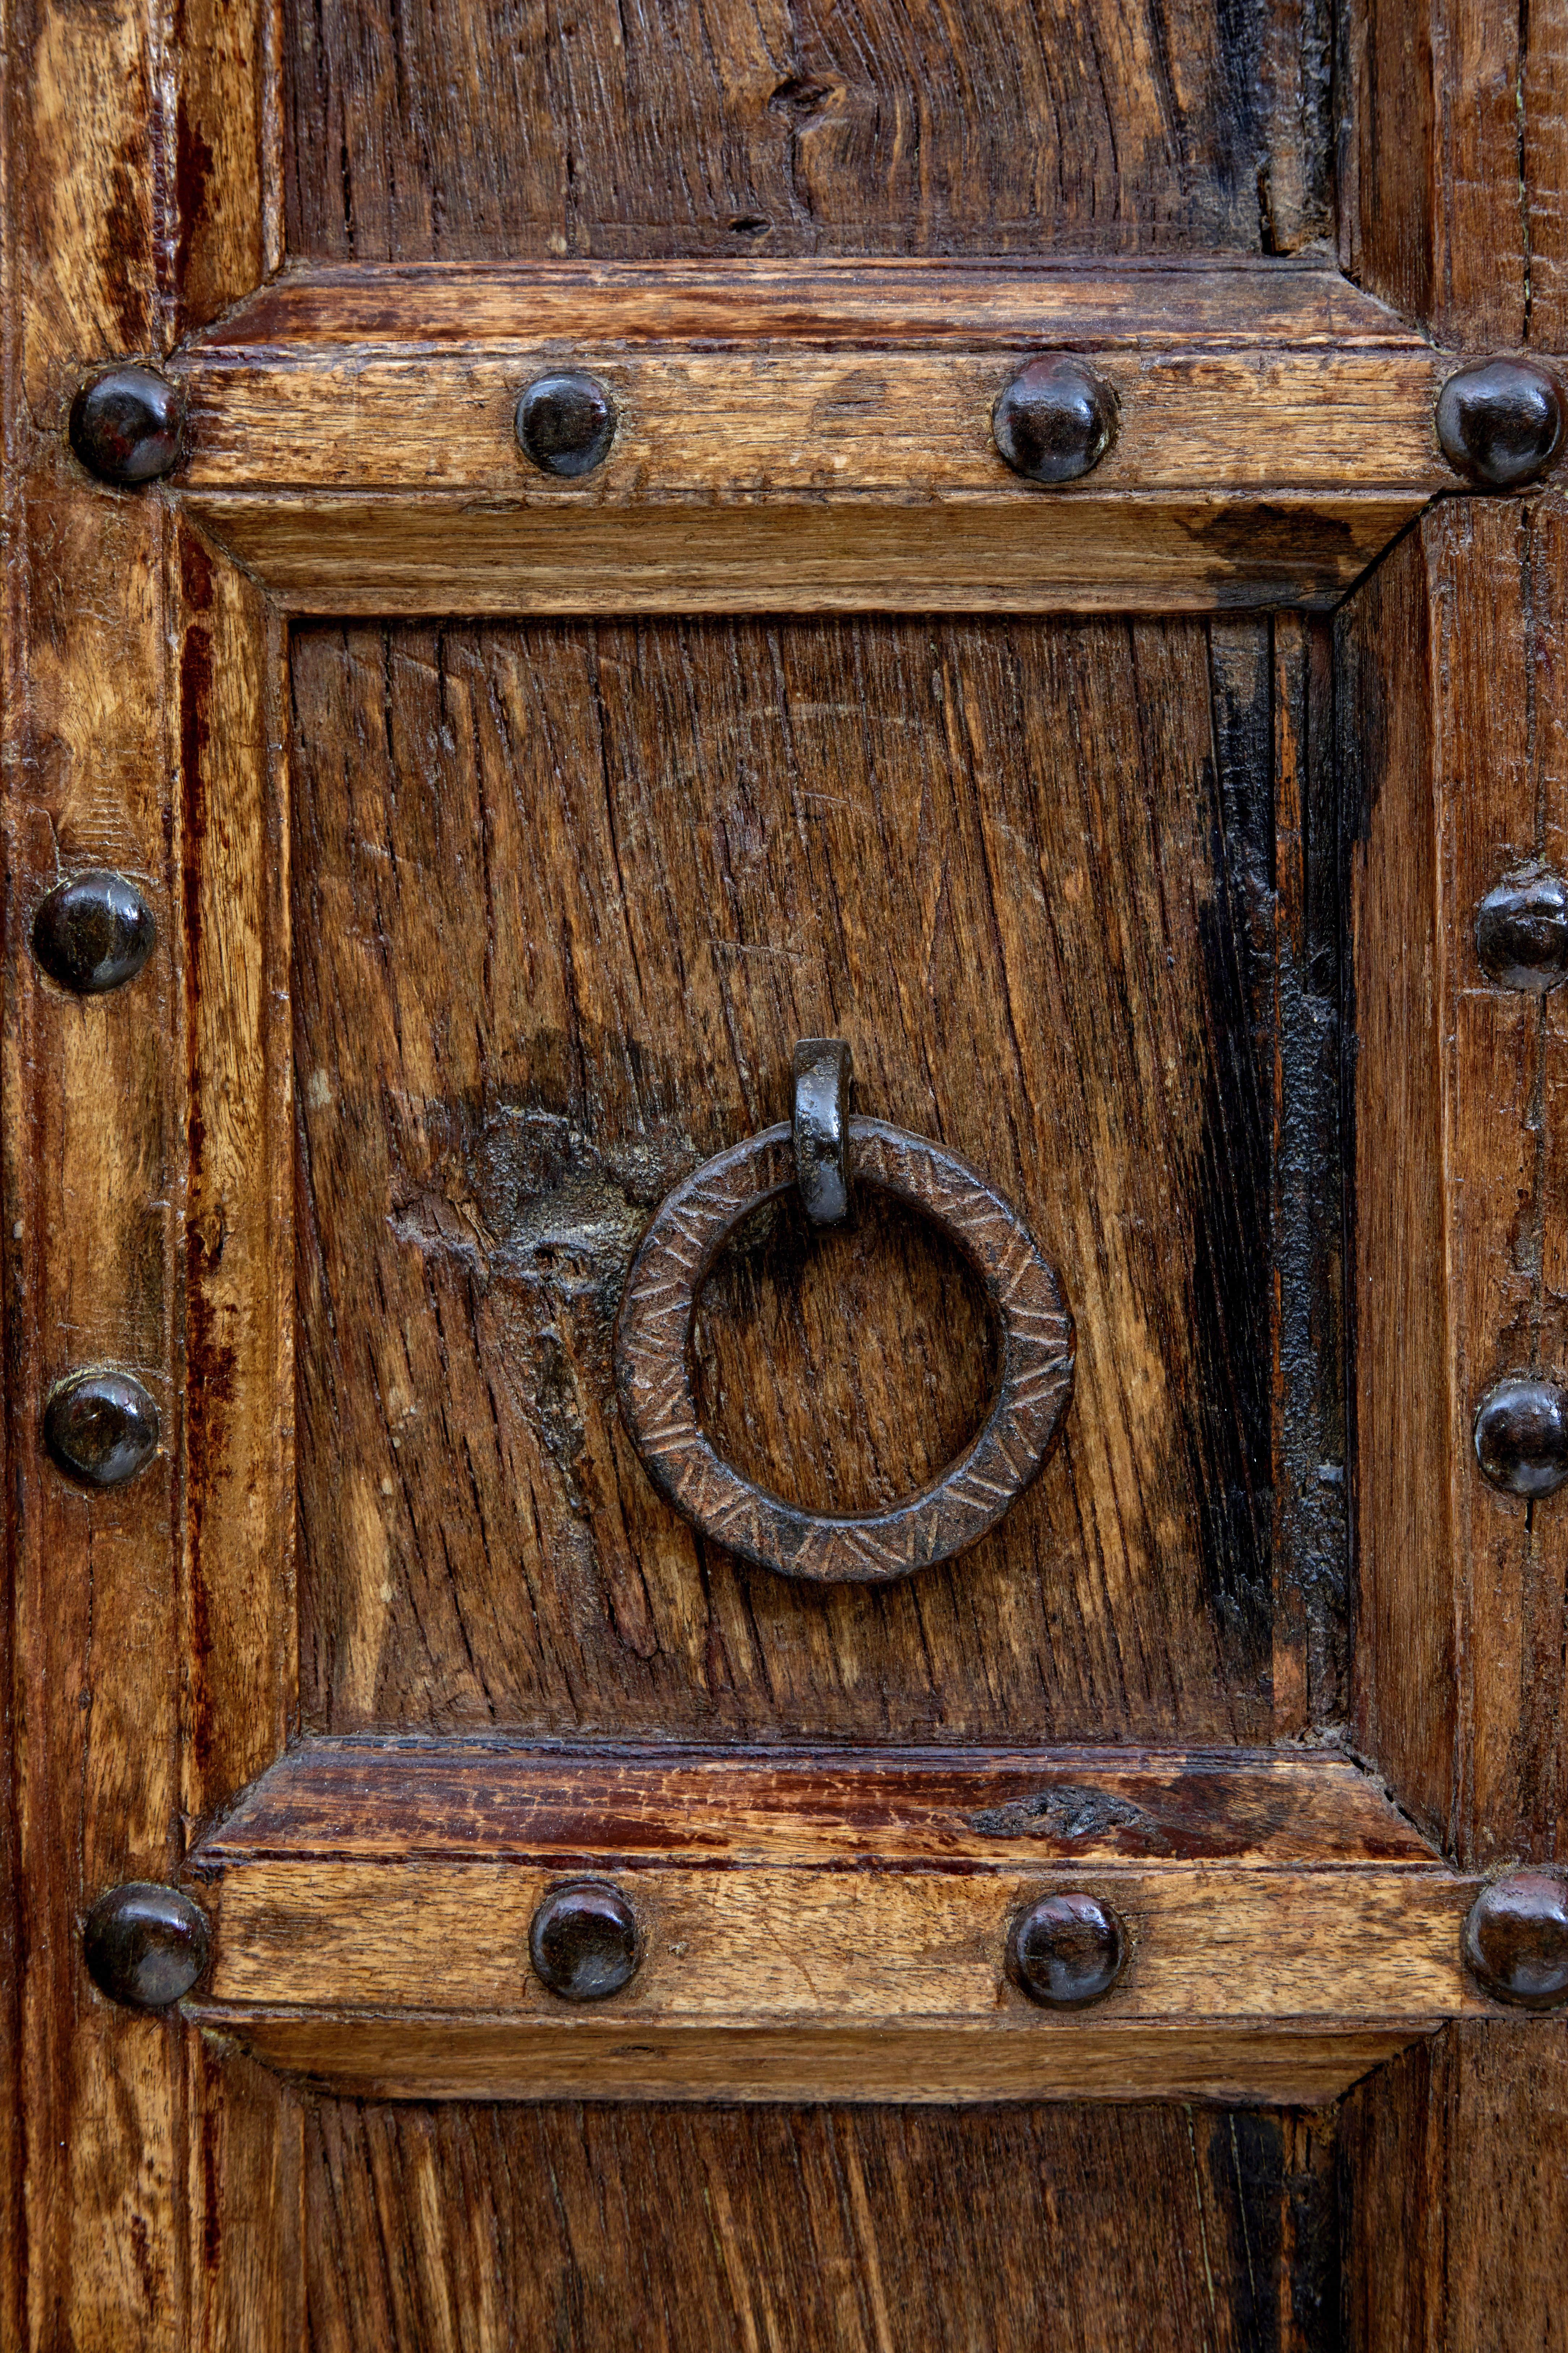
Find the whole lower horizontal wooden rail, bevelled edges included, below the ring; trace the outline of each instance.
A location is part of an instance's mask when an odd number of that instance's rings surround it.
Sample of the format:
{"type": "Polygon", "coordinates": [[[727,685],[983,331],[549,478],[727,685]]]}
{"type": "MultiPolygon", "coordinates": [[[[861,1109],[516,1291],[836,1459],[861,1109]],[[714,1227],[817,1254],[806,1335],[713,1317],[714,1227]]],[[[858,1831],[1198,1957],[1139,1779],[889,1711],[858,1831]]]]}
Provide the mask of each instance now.
{"type": "Polygon", "coordinates": [[[193,1852],[186,2005],[374,2097],[1333,2099],[1443,2017],[1474,1880],[1321,1755],[661,1755],[322,1741],[193,1852]],[[607,2002],[529,1967],[592,1873],[644,1958],[607,2002]],[[1004,1967],[1023,1904],[1112,1904],[1093,2009],[1004,1967]]]}

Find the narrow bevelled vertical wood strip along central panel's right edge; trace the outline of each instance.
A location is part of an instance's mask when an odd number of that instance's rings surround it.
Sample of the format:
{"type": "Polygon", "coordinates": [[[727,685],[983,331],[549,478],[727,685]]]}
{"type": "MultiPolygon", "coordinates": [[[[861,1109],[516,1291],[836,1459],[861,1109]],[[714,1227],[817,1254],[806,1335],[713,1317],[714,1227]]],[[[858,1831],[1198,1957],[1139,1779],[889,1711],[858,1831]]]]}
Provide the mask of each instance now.
{"type": "Polygon", "coordinates": [[[1354,1711],[1429,1835],[1450,1833],[1455,1461],[1432,781],[1432,614],[1420,534],[1335,628],[1349,847],[1354,1202],[1354,1711]]]}

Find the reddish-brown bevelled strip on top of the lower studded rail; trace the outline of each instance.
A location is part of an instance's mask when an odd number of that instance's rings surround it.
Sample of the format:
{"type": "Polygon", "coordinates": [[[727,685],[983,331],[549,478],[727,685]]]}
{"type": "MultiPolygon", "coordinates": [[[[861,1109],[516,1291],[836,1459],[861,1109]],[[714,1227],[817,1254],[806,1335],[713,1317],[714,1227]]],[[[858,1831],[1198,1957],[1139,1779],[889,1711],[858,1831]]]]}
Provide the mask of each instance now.
{"type": "Polygon", "coordinates": [[[886,1868],[1030,1861],[1432,1864],[1380,1784],[1279,1751],[592,1751],[306,1741],[200,1842],[256,1857],[512,1857],[886,1868]]]}

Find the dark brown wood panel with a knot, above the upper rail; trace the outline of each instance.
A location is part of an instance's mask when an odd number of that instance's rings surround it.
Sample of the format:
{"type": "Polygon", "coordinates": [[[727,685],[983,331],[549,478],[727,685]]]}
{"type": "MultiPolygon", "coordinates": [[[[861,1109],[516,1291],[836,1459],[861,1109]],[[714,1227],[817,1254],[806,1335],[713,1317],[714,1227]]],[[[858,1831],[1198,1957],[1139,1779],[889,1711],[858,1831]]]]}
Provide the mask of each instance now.
{"type": "Polygon", "coordinates": [[[1293,252],[1326,226],[1328,19],[1185,0],[287,9],[289,247],[1293,252]]]}

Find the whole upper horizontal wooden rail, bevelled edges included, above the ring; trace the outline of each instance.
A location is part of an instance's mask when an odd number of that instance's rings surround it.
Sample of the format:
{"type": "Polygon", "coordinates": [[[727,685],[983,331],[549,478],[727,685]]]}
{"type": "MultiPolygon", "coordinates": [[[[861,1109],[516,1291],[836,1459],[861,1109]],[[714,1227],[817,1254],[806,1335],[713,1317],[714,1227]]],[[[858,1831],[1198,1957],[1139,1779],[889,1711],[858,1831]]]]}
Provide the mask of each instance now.
{"type": "Polygon", "coordinates": [[[306,271],[176,358],[172,482],[294,612],[1324,605],[1455,487],[1450,365],[1298,264],[306,271]],[[1056,489],[990,426],[1039,351],[1119,402],[1056,489]],[[564,362],[618,409],[574,482],[512,433],[564,362]]]}

